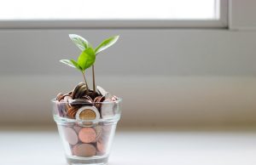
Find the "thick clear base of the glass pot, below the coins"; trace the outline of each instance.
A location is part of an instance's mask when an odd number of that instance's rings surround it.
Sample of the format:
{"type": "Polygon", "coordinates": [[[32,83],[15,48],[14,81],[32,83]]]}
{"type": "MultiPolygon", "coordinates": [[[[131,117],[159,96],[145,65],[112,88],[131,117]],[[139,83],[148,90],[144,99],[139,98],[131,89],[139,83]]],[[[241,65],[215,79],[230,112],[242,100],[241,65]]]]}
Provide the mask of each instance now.
{"type": "Polygon", "coordinates": [[[67,163],[70,165],[106,165],[108,156],[78,157],[66,156],[67,163]]]}

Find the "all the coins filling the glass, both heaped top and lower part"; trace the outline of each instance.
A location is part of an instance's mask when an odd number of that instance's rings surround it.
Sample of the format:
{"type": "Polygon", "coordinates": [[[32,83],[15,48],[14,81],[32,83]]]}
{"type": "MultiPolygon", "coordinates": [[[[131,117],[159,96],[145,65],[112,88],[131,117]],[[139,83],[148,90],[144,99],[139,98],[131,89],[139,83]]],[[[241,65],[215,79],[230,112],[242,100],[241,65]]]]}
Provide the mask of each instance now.
{"type": "Polygon", "coordinates": [[[57,115],[75,119],[59,126],[73,156],[102,156],[108,151],[115,125],[97,119],[114,117],[119,110],[119,98],[102,87],[96,89],[94,92],[87,89],[85,83],[79,83],[71,92],[57,94],[57,115]]]}

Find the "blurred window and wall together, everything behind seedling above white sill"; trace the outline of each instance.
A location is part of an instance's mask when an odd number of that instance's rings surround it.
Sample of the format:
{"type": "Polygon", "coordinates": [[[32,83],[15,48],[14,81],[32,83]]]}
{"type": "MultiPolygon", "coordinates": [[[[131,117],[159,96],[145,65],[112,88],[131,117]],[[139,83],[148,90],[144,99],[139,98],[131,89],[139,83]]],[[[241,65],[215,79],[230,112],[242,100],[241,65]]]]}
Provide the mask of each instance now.
{"type": "Polygon", "coordinates": [[[124,100],[120,130],[256,126],[253,0],[1,3],[4,130],[55,128],[50,100],[83,81],[59,62],[79,54],[70,33],[94,46],[120,35],[96,60],[96,84],[124,100]]]}

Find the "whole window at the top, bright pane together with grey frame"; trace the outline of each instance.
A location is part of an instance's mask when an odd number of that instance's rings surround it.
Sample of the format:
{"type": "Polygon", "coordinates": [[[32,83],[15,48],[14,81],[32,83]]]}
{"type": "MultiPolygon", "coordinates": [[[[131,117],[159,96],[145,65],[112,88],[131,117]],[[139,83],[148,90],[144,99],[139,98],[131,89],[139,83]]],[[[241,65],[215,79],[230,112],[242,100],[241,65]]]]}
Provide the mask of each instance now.
{"type": "Polygon", "coordinates": [[[226,13],[227,0],[8,0],[0,6],[2,27],[224,27],[226,13]]]}

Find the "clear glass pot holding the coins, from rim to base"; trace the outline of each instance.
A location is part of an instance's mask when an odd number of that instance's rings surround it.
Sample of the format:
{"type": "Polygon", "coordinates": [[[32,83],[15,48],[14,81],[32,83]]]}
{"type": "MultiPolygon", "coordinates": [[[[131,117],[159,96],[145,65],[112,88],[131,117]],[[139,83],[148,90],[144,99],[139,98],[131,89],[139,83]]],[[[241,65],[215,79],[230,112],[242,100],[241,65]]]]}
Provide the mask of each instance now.
{"type": "MultiPolygon", "coordinates": [[[[76,118],[68,117],[67,114],[71,107],[68,101],[52,100],[53,117],[64,145],[68,164],[103,165],[108,163],[115,128],[121,115],[121,102],[121,99],[111,102],[94,102],[90,107],[100,109],[101,117],[94,120],[84,120],[78,115],[76,118]],[[102,111],[105,111],[104,116],[100,107],[102,107],[102,111]]],[[[86,103],[73,104],[72,106],[77,107],[77,109],[88,108],[86,103]]]]}

